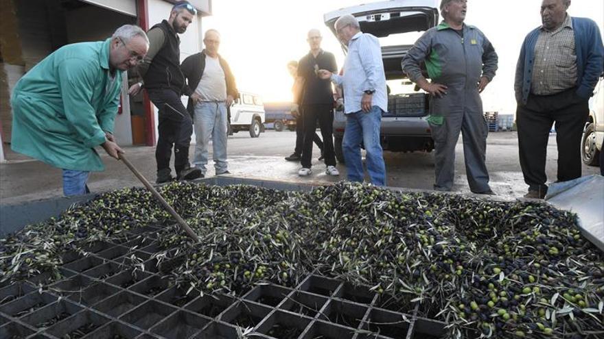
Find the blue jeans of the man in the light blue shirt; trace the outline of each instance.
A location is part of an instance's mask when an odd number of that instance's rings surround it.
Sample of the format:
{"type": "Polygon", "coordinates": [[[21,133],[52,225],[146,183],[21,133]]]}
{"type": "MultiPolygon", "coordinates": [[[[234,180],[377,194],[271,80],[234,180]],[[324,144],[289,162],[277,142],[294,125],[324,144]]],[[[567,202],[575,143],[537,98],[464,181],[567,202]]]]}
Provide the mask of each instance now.
{"type": "Polygon", "coordinates": [[[367,151],[367,173],[371,184],[386,185],[386,164],[380,145],[380,121],[382,121],[382,109],[377,106],[373,106],[367,113],[359,111],[346,114],[342,153],[344,153],[350,181],[363,181],[362,143],[367,151]]]}

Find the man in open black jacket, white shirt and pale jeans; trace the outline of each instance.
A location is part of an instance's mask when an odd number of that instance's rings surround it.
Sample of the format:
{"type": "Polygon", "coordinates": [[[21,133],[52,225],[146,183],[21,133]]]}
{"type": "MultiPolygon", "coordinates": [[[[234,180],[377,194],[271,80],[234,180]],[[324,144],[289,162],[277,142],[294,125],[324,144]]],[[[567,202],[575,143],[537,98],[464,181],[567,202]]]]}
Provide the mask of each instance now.
{"type": "Polygon", "coordinates": [[[181,69],[188,86],[187,110],[193,116],[196,145],[193,164],[205,175],[208,145],[212,140],[216,175],[229,174],[227,169],[227,108],[238,97],[235,77],[229,64],[218,54],[220,34],[208,29],[203,38],[205,49],[190,55],[181,69]]]}

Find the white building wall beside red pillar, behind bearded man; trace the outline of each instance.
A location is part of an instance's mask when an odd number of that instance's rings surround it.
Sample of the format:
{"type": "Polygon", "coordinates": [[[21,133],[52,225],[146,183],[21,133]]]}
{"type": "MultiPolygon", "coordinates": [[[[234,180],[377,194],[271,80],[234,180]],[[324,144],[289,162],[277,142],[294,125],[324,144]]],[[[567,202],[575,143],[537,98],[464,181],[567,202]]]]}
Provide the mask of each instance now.
{"type": "MultiPolygon", "coordinates": [[[[149,27],[152,27],[156,23],[161,23],[162,20],[170,17],[170,10],[172,10],[172,3],[167,3],[163,0],[149,0],[149,27]]],[[[201,14],[198,12],[196,18],[187,27],[187,32],[179,34],[181,37],[181,62],[191,54],[198,53],[202,50],[202,30],[201,30],[201,14]]],[[[187,97],[182,97],[183,105],[187,105],[187,97]]],[[[157,108],[153,106],[155,114],[155,140],[159,136],[157,131],[157,108]]],[[[195,140],[195,135],[192,136],[192,140],[195,140]]]]}

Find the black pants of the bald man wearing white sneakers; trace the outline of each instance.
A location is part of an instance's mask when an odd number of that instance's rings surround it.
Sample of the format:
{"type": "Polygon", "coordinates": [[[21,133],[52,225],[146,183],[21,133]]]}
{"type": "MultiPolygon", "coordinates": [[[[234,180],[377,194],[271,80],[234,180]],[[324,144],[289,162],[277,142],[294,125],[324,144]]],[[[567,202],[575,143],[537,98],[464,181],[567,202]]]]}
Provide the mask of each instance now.
{"type": "Polygon", "coordinates": [[[334,105],[303,105],[304,146],[302,148],[302,167],[310,168],[312,159],[312,138],[316,136],[316,123],[323,136],[323,157],[327,166],[336,166],[334,153],[334,105]]]}

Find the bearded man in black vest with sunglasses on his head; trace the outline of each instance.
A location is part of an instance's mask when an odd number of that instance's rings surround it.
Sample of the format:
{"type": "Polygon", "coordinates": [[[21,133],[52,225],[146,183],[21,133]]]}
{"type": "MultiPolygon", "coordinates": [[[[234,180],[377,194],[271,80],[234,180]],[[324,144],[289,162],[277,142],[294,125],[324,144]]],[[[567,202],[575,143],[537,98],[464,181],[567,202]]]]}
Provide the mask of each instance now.
{"type": "Polygon", "coordinates": [[[149,99],[159,110],[159,138],[155,149],[157,184],[174,179],[170,170],[172,148],[176,179],[191,180],[202,176],[199,168],[189,164],[193,121],[181,101],[186,83],[180,68],[181,40],[178,38],[178,34],[187,31],[196,14],[197,10],[188,1],[177,1],[170,18],[151,27],[147,33],[151,42],[149,52],[138,68],[143,81],[132,85],[128,92],[137,95],[142,87],[146,88],[149,99]]]}

